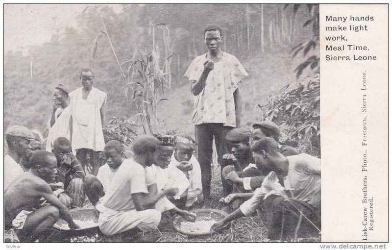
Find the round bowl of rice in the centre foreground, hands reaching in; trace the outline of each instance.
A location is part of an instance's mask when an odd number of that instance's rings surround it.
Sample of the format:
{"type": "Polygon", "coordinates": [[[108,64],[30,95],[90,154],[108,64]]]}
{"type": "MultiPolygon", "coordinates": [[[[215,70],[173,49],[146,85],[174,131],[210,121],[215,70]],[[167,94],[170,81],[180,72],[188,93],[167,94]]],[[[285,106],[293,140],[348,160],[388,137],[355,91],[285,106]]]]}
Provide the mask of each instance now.
{"type": "MultiPolygon", "coordinates": [[[[195,222],[209,221],[209,220],[215,220],[218,222],[228,215],[226,212],[223,212],[218,209],[212,209],[212,208],[194,209],[189,212],[196,214],[195,222]]],[[[181,217],[180,215],[176,215],[173,220],[173,226],[174,226],[175,230],[177,230],[180,233],[189,234],[189,235],[206,235],[206,234],[212,233],[211,229],[209,231],[206,231],[206,230],[186,230],[184,227],[181,227],[181,223],[184,223],[184,222],[187,222],[187,221],[183,217],[181,217]]]]}

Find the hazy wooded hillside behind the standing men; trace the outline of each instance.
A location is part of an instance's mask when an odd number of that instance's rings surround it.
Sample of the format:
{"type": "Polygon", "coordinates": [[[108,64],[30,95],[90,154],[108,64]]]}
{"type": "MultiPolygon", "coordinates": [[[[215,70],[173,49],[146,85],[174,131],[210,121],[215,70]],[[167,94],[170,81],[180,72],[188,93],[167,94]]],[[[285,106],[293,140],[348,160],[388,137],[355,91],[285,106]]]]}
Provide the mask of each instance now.
{"type": "MultiPolygon", "coordinates": [[[[259,115],[257,104],[265,104],[269,95],[300,80],[296,79],[294,70],[305,57],[293,58],[291,50],[312,37],[311,29],[302,27],[311,16],[306,6],[300,7],[294,16],[293,11],[283,10],[283,5],[264,4],[264,42],[260,35],[260,4],[211,4],[208,8],[202,4],[132,4],[123,5],[123,12],[119,14],[110,5],[98,7],[120,62],[132,59],[135,50],[152,50],[151,24],[164,23],[169,28],[167,53],[174,54],[170,71],[178,83],[173,77],[170,89],[165,87],[165,93],[159,94],[168,99],[159,103],[159,129],[175,129],[187,135],[193,135],[194,101],[189,82],[182,75],[196,55],[206,52],[202,40],[205,25],[217,23],[225,28],[223,49],[236,55],[249,73],[240,86],[242,125],[259,115]],[[196,12],[200,13],[197,18],[191,14],[196,12]],[[274,28],[272,37],[269,37],[272,34],[268,28],[270,25],[274,28]],[[290,37],[286,30],[291,30],[290,37]]],[[[6,53],[5,129],[19,124],[44,132],[52,109],[54,86],[63,83],[70,90],[76,89],[80,86],[80,70],[86,67],[95,72],[95,87],[108,93],[107,118],[132,118],[137,114],[134,103],[125,98],[124,80],[105,34],[97,40],[94,63],[92,61],[93,41],[103,30],[97,9],[94,6],[88,8],[77,20],[76,27],[64,27],[48,43],[31,47],[25,54],[22,51],[6,53]]],[[[166,57],[165,32],[167,29],[162,25],[154,28],[154,45],[160,67],[166,57]]],[[[301,77],[306,75],[305,71],[301,77]]]]}

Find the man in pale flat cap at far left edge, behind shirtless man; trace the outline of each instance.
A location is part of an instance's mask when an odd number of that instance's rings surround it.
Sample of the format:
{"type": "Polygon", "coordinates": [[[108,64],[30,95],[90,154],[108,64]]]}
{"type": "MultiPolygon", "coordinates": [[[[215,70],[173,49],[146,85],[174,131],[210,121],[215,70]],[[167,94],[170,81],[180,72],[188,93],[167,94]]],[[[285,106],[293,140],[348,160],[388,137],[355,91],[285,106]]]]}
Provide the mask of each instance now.
{"type": "Polygon", "coordinates": [[[27,127],[14,125],[5,131],[8,154],[4,156],[4,192],[15,178],[24,173],[19,161],[31,154],[30,141],[34,141],[33,133],[27,127]]]}

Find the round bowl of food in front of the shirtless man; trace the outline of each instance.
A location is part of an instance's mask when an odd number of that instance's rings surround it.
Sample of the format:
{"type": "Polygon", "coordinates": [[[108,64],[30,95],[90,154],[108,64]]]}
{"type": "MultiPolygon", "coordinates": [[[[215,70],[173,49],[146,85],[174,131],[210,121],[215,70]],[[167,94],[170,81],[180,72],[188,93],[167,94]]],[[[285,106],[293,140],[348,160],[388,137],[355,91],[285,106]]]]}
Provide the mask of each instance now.
{"type": "MultiPolygon", "coordinates": [[[[93,221],[95,225],[89,225],[89,226],[83,226],[79,225],[80,228],[75,229],[73,231],[84,231],[88,229],[93,229],[93,228],[98,228],[98,214],[95,212],[94,207],[82,207],[82,208],[74,208],[70,209],[70,214],[72,216],[73,220],[78,220],[78,221],[93,221]]],[[[75,222],[77,224],[77,222],[75,222]]],[[[64,230],[64,231],[70,231],[72,229],[69,228],[68,223],[64,221],[63,219],[59,219],[53,227],[59,229],[59,230],[64,230]]]]}

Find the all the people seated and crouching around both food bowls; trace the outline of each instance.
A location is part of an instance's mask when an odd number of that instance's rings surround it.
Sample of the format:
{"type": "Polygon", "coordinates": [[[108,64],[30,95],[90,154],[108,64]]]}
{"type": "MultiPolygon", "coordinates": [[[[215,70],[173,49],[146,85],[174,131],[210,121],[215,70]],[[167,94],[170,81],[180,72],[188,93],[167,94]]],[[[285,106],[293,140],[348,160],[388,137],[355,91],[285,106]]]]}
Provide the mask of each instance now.
{"type": "MultiPolygon", "coordinates": [[[[320,159],[279,144],[279,135],[279,127],[269,121],[227,133],[230,153],[223,158],[232,163],[223,168],[222,179],[231,193],[221,203],[229,215],[212,229],[257,212],[270,240],[320,232],[320,159]]],[[[78,228],[68,209],[82,207],[87,199],[107,236],[157,229],[161,218],[172,213],[192,220],[196,215],[188,210],[203,202],[197,145],[190,137],[138,137],[128,159],[120,142],[109,141],[97,176],[85,174],[65,137],[56,138],[49,152],[40,147],[42,136],[15,125],[7,129],[6,141],[6,241],[34,242],[59,218],[78,228]]]]}

